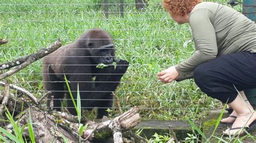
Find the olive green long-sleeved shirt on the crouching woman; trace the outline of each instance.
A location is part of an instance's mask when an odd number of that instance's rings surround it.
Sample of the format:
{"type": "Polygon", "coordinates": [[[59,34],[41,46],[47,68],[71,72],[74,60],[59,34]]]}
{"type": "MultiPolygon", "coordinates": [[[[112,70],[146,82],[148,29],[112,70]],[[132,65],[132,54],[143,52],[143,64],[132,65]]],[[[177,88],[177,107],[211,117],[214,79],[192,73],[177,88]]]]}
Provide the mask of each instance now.
{"type": "Polygon", "coordinates": [[[228,6],[199,3],[191,11],[189,23],[196,51],[176,66],[179,73],[176,81],[193,78],[193,70],[200,63],[217,56],[256,52],[256,24],[228,6]]]}

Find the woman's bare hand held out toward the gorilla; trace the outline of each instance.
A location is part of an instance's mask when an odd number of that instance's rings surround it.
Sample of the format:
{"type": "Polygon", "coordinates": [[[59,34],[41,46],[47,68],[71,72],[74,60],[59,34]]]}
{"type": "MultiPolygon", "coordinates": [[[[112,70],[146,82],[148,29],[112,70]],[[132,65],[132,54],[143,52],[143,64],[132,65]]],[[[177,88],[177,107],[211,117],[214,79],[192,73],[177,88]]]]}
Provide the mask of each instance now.
{"type": "Polygon", "coordinates": [[[157,74],[157,76],[161,82],[169,83],[174,81],[179,76],[179,73],[176,70],[176,68],[172,66],[168,69],[161,71],[160,73],[157,74]]]}

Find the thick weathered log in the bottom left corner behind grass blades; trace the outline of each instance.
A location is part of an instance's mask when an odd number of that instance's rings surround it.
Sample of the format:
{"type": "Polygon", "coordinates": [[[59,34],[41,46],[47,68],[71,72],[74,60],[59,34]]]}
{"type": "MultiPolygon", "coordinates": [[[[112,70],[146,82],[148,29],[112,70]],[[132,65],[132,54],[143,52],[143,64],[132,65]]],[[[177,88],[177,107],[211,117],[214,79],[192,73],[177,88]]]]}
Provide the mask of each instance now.
{"type": "MultiPolygon", "coordinates": [[[[63,136],[69,142],[76,142],[78,138],[69,131],[64,130],[60,124],[56,124],[56,120],[49,116],[46,112],[39,110],[32,106],[26,109],[19,120],[19,125],[24,126],[28,124],[29,112],[32,120],[33,132],[35,134],[36,142],[64,142],[63,136]]],[[[58,121],[58,120],[57,120],[58,121]]],[[[5,127],[6,130],[11,130],[12,125],[9,124],[5,127]]],[[[23,135],[28,137],[29,131],[25,128],[23,135]]]]}

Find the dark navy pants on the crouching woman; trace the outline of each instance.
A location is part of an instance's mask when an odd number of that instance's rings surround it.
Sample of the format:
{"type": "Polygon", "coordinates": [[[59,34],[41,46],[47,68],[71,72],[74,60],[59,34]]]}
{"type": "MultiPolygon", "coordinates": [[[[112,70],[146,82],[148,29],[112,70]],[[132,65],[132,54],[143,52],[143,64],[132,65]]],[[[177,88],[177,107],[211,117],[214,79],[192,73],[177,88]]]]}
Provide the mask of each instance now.
{"type": "Polygon", "coordinates": [[[194,81],[208,96],[231,103],[238,95],[235,88],[256,88],[256,53],[233,53],[201,63],[194,69],[194,81]]]}

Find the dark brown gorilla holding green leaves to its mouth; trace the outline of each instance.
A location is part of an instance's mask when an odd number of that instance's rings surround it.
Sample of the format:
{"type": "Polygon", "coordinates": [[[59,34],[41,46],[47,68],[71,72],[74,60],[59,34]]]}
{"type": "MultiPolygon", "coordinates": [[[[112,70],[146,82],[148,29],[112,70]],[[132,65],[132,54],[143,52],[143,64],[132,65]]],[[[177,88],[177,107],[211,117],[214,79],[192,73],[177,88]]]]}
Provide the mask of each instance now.
{"type": "Polygon", "coordinates": [[[111,92],[116,90],[129,66],[129,62],[116,61],[114,56],[112,38],[107,32],[99,29],[83,33],[76,42],[60,47],[46,56],[43,59],[43,81],[44,88],[51,91],[47,106],[50,106],[50,97],[53,96],[53,109],[60,111],[61,100],[66,93],[68,110],[72,115],[77,115],[69,93],[64,91],[65,75],[75,99],[79,85],[83,108],[90,110],[98,107],[97,118],[107,116],[106,109],[112,108],[111,92]],[[117,62],[116,68],[112,65],[103,69],[96,68],[99,63],[110,65],[113,61],[117,62]]]}

